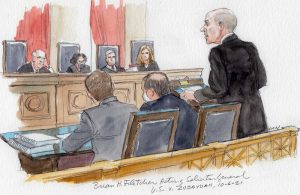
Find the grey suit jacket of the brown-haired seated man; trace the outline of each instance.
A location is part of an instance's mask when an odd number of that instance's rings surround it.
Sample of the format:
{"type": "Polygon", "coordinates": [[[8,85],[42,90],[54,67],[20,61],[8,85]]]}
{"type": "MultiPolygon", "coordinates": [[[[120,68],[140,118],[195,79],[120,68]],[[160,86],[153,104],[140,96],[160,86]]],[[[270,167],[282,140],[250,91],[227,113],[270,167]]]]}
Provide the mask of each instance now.
{"type": "Polygon", "coordinates": [[[94,162],[121,159],[130,112],[136,111],[134,105],[121,103],[114,96],[103,100],[82,112],[79,127],[63,140],[63,149],[76,151],[91,140],[94,162]]]}

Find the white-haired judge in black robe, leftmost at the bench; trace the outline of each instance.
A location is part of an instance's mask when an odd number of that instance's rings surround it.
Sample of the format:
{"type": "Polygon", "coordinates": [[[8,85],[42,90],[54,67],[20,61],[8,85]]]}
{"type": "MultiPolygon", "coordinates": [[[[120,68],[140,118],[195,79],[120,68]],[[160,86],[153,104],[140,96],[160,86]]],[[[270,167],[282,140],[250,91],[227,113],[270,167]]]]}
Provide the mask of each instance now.
{"type": "Polygon", "coordinates": [[[18,67],[19,73],[51,73],[51,67],[47,64],[45,52],[35,50],[32,52],[32,61],[18,67]]]}

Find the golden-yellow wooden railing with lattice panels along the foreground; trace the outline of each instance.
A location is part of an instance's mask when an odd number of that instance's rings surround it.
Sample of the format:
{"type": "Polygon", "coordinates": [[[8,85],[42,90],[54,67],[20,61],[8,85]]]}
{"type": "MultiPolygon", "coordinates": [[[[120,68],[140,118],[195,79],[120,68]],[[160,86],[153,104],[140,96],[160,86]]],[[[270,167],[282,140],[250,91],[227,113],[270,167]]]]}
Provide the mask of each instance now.
{"type": "Polygon", "coordinates": [[[213,143],[208,146],[134,157],[119,161],[101,161],[87,167],[31,175],[28,181],[87,182],[117,179],[123,176],[170,166],[179,168],[240,167],[254,162],[294,157],[298,129],[286,127],[239,140],[213,143]]]}

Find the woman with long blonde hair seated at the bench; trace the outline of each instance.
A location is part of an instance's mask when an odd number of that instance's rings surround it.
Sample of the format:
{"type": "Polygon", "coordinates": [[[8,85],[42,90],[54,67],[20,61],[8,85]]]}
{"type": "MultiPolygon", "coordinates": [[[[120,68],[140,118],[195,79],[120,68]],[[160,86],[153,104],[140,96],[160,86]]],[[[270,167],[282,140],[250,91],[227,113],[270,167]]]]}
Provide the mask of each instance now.
{"type": "Polygon", "coordinates": [[[143,45],[140,48],[137,57],[138,71],[158,71],[159,67],[154,60],[152,49],[148,45],[143,45]]]}

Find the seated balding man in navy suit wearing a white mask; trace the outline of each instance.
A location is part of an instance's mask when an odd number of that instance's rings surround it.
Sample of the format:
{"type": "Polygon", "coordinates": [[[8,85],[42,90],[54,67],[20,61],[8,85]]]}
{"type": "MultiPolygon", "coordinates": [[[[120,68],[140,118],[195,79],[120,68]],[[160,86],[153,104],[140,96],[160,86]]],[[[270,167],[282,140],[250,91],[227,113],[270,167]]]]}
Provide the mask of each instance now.
{"type": "Polygon", "coordinates": [[[170,93],[169,80],[162,72],[152,72],[142,81],[145,103],[141,111],[179,108],[174,150],[191,148],[197,126],[197,113],[182,99],[170,93]]]}

